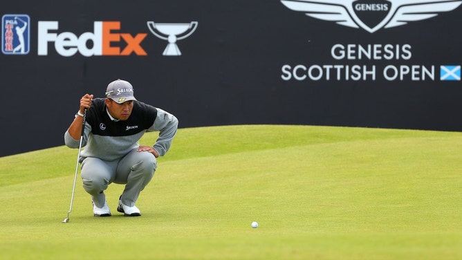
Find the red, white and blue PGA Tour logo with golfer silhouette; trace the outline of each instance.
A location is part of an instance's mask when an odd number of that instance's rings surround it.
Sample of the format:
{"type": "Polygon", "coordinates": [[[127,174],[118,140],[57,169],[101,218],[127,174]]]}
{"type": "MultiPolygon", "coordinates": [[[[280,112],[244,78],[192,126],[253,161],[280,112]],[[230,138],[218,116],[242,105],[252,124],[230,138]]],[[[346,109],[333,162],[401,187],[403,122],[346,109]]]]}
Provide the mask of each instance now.
{"type": "Polygon", "coordinates": [[[29,50],[29,16],[3,15],[1,18],[1,51],[8,55],[26,55],[29,50]]]}

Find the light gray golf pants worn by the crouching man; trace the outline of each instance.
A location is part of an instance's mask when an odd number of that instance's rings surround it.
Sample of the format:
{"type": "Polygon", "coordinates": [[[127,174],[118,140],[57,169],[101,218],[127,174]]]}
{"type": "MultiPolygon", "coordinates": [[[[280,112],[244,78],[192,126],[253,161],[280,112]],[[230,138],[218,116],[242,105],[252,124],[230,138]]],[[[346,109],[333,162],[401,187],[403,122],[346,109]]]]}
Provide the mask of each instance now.
{"type": "Polygon", "coordinates": [[[157,160],[147,151],[133,149],[119,160],[106,161],[88,157],[82,161],[81,176],[86,192],[97,207],[106,201],[104,190],[111,183],[125,184],[121,200],[124,205],[133,207],[142,189],[151,181],[156,171],[157,160]]]}

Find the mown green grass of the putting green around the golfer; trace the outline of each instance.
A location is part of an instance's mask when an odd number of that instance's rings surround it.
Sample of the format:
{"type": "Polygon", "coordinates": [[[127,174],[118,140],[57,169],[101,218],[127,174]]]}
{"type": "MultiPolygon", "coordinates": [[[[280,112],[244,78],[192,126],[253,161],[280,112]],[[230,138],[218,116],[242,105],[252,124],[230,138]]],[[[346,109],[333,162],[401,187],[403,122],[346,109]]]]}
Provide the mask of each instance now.
{"type": "Polygon", "coordinates": [[[6,156],[0,259],[462,259],[461,155],[454,132],[179,129],[141,217],[115,211],[115,184],[93,217],[78,176],[69,223],[77,149],[6,156]]]}

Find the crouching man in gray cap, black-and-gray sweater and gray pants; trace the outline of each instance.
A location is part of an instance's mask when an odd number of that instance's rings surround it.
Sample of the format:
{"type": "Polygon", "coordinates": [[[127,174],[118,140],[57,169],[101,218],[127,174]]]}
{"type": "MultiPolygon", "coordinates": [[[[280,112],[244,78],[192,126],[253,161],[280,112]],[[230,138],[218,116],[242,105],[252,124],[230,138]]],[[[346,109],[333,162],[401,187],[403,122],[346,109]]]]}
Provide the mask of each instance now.
{"type": "Polygon", "coordinates": [[[133,86],[124,80],[109,83],[106,98],[86,94],[80,99],[80,110],[64,133],[64,142],[79,148],[83,136],[81,176],[85,191],[91,195],[94,216],[111,216],[104,194],[111,183],[125,185],[117,211],[124,216],[141,216],[135,205],[138,196],[154,176],[156,158],[172,145],[177,128],[174,115],[137,101],[133,86]],[[138,142],[146,131],[159,131],[152,147],[138,142]]]}

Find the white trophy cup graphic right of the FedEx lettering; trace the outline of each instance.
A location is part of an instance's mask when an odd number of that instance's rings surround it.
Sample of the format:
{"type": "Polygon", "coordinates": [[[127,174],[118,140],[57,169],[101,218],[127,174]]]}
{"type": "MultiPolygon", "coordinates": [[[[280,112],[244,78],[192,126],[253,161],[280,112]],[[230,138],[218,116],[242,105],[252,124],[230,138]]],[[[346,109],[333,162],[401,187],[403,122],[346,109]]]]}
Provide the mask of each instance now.
{"type": "Polygon", "coordinates": [[[165,47],[164,56],[180,56],[181,51],[176,45],[176,41],[192,35],[197,28],[197,21],[192,21],[189,24],[159,24],[148,21],[147,27],[156,37],[169,41],[165,47]]]}

